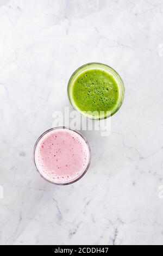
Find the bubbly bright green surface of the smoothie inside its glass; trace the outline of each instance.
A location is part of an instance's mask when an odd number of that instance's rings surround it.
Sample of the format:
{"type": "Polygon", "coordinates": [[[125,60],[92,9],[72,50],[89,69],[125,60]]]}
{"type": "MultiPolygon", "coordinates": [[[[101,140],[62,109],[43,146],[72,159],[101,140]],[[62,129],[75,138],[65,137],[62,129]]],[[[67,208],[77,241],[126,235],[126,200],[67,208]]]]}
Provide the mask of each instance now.
{"type": "Polygon", "coordinates": [[[72,86],[72,99],[82,112],[114,111],[120,93],[114,77],[104,70],[91,69],[80,74],[72,86]]]}

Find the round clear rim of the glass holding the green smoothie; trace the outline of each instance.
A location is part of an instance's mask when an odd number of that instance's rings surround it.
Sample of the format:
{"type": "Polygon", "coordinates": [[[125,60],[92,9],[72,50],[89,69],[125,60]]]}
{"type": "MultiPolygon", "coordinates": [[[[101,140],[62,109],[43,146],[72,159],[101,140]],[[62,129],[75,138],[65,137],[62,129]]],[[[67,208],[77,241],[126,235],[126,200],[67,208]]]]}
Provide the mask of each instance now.
{"type": "MultiPolygon", "coordinates": [[[[86,70],[85,70],[85,71],[86,71],[86,70]]],[[[110,74],[110,73],[108,72],[108,74],[110,74]]],[[[112,75],[112,74],[110,74],[110,75],[112,75]]],[[[71,77],[70,77],[70,80],[68,81],[68,85],[67,85],[67,96],[68,96],[68,99],[69,99],[69,101],[70,101],[71,106],[73,107],[73,109],[74,109],[75,111],[77,111],[80,115],[83,115],[85,118],[87,118],[87,119],[92,119],[92,120],[103,120],[103,119],[109,118],[109,117],[111,117],[112,115],[114,115],[114,114],[121,108],[121,106],[122,106],[122,103],[123,103],[123,100],[124,100],[124,93],[125,93],[124,82],[123,82],[121,76],[118,74],[118,72],[117,72],[115,69],[111,68],[111,66],[106,65],[106,64],[103,64],[103,63],[100,63],[100,62],[90,62],[90,63],[87,63],[87,64],[84,64],[84,65],[80,66],[76,71],[73,72],[73,74],[72,74],[71,77]],[[72,81],[73,78],[74,78],[74,80],[75,80],[75,79],[78,77],[78,75],[82,74],[82,72],[78,74],[78,72],[79,72],[80,70],[81,70],[81,71],[82,71],[82,70],[84,71],[84,68],[86,68],[87,66],[94,66],[94,65],[97,65],[97,66],[100,66],[100,67],[104,66],[106,69],[112,71],[112,73],[115,75],[115,77],[114,77],[115,81],[116,81],[116,82],[117,82],[117,81],[120,82],[120,83],[118,84],[118,88],[119,88],[119,89],[121,88],[121,96],[120,96],[119,99],[118,99],[118,102],[117,102],[117,105],[116,105],[115,108],[114,108],[114,111],[112,111],[112,113],[110,112],[110,114],[109,114],[109,115],[106,115],[105,117],[100,117],[100,115],[99,115],[98,118],[94,118],[94,117],[91,117],[90,115],[85,115],[85,114],[84,114],[84,111],[80,111],[80,109],[76,106],[76,104],[74,103],[74,101],[72,100],[72,97],[71,97],[71,88],[72,88],[73,82],[74,82],[74,81],[72,81]],[[77,74],[78,74],[78,75],[77,75],[77,74]],[[77,76],[76,76],[76,75],[77,75],[77,76]]],[[[108,112],[109,112],[109,111],[108,111],[108,112]]]]}

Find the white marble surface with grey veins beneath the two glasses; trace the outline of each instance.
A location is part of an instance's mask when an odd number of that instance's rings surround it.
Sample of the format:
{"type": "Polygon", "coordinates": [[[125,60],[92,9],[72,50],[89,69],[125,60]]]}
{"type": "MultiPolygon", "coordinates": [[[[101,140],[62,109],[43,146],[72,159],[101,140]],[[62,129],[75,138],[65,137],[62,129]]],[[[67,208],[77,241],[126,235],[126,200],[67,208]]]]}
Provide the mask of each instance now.
{"type": "Polygon", "coordinates": [[[162,0],[0,0],[2,245],[163,245],[162,31],[162,0]],[[84,132],[84,178],[53,186],[33,146],[89,62],[121,74],[125,101],[109,137],[84,132]]]}

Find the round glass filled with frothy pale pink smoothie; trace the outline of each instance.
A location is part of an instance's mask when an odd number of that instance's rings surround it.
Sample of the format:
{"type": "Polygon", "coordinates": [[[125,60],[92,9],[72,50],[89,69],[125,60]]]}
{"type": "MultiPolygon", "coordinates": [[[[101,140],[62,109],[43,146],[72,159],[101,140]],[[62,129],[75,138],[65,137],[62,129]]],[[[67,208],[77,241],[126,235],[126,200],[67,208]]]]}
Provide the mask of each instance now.
{"type": "Polygon", "coordinates": [[[89,143],[78,131],[55,127],[43,133],[34,147],[34,164],[43,179],[69,185],[81,179],[91,162],[89,143]]]}

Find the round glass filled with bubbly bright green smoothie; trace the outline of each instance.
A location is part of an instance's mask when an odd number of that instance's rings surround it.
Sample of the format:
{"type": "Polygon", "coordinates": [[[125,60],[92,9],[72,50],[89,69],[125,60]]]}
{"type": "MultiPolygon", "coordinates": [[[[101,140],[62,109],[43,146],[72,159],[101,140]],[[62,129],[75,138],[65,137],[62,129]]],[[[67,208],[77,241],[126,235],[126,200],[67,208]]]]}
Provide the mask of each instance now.
{"type": "Polygon", "coordinates": [[[120,109],[124,90],[123,81],[114,69],[102,63],[89,63],[72,74],[67,94],[76,111],[99,120],[120,109]]]}

